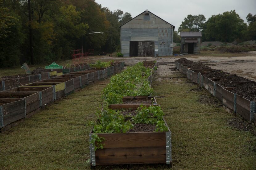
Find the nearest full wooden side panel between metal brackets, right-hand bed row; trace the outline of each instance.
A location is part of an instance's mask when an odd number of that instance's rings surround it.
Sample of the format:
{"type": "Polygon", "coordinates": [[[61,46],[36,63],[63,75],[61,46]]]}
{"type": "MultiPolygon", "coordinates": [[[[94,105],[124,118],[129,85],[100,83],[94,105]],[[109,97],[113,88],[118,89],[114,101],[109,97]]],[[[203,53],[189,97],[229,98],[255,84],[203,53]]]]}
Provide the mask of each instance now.
{"type": "Polygon", "coordinates": [[[237,95],[237,113],[250,121],[250,100],[237,95]]]}

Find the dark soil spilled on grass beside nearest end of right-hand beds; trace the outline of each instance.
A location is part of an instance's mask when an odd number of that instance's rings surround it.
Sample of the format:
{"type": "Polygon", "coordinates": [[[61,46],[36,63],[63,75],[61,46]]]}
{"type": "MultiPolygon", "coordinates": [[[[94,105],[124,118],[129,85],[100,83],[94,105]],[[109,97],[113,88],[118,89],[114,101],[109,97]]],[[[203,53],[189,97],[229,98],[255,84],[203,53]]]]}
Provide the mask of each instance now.
{"type": "Polygon", "coordinates": [[[239,130],[250,131],[256,135],[255,125],[252,122],[242,120],[241,118],[230,118],[228,123],[230,126],[239,130]]]}

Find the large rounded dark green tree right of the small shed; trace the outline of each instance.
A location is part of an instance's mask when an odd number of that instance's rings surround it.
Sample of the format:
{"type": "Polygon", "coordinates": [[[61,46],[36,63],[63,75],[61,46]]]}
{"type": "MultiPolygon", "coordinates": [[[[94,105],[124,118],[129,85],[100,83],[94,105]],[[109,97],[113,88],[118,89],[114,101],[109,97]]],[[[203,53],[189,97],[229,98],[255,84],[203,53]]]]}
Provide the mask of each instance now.
{"type": "Polygon", "coordinates": [[[247,25],[235,10],[213,15],[206,22],[205,37],[210,41],[232,42],[242,39],[247,25]]]}

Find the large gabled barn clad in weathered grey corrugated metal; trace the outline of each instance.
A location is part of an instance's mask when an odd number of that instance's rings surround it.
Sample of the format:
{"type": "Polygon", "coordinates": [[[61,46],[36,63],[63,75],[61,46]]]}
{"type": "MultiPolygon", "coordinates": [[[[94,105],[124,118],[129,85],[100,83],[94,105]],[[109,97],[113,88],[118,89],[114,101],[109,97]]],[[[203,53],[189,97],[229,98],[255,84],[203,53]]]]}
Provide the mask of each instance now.
{"type": "Polygon", "coordinates": [[[171,56],[175,26],[146,10],[120,26],[121,52],[129,56],[171,56]]]}

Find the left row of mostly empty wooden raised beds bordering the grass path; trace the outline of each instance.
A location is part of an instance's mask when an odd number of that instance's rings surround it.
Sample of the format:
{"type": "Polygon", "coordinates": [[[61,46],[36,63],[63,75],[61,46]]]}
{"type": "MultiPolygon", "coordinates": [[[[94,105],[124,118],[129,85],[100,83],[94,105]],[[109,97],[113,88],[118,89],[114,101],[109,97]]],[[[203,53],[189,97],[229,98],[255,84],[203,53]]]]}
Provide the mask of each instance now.
{"type": "Polygon", "coordinates": [[[31,117],[48,103],[64,98],[89,83],[122,70],[123,62],[102,69],[89,69],[63,74],[54,78],[29,83],[0,92],[1,132],[31,117]],[[103,72],[101,72],[103,70],[103,72]],[[103,74],[103,73],[107,74],[103,74]]]}

